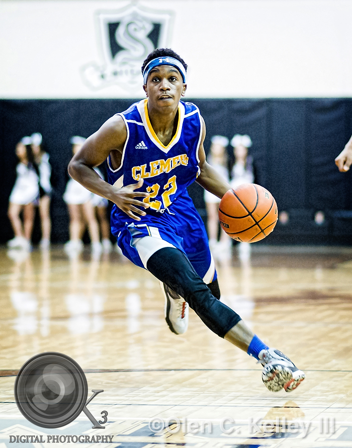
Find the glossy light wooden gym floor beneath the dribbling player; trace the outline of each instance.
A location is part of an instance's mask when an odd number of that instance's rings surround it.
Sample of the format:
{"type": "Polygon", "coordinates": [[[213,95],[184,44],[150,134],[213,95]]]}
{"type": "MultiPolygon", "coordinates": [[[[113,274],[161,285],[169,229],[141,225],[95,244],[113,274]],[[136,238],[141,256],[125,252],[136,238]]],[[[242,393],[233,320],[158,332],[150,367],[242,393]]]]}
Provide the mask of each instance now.
{"type": "Polygon", "coordinates": [[[352,249],[260,246],[242,261],[234,249],[217,267],[222,300],[306,372],[297,390],[266,390],[261,366],[192,311],[187,333],[172,334],[158,281],[116,253],[0,249],[0,448],[52,446],[9,435],[97,434],[112,443],[85,446],[352,447],[352,249]],[[107,411],[104,430],[83,413],[55,430],[22,417],[15,375],[46,351],[74,358],[89,390],[104,390],[88,405],[97,419],[107,411]]]}

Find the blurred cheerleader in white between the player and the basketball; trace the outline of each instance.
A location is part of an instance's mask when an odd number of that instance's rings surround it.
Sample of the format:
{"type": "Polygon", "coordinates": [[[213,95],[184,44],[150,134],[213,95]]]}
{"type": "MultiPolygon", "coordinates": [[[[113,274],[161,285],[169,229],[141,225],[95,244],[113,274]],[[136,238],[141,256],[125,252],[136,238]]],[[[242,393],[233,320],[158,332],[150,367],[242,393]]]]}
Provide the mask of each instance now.
{"type": "MultiPolygon", "coordinates": [[[[211,138],[210,151],[207,157],[208,163],[215,168],[215,170],[228,181],[229,173],[227,169],[227,151],[226,147],[229,144],[227,137],[222,135],[214,135],[211,138]]],[[[218,210],[220,199],[204,191],[204,201],[208,217],[208,235],[209,247],[215,256],[220,258],[229,258],[231,255],[231,239],[221,228],[220,241],[218,241],[219,219],[218,210]]]]}

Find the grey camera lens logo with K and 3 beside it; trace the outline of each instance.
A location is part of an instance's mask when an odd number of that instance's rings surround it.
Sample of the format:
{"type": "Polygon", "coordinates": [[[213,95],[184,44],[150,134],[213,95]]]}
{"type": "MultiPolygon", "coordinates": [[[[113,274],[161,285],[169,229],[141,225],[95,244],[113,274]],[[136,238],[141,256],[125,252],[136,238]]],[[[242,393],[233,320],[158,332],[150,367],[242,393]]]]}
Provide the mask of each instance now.
{"type": "Polygon", "coordinates": [[[107,412],[97,422],[87,409],[88,403],[103,390],[93,390],[87,401],[88,384],[82,368],[67,355],[40,353],[30,358],[18,372],[14,396],[22,415],[42,428],[61,428],[74,421],[82,411],[93,428],[104,428],[107,412]]]}

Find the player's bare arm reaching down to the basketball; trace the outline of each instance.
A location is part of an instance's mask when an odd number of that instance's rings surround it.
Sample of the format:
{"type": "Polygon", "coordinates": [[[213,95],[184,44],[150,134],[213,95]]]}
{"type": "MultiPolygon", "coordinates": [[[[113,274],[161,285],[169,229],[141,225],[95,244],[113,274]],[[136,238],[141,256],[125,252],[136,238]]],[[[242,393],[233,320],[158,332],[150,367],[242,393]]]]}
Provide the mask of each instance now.
{"type": "Polygon", "coordinates": [[[197,183],[205,188],[205,190],[210,191],[210,193],[221,199],[224,194],[231,189],[231,185],[222,176],[220,176],[220,174],[214,170],[214,168],[209,165],[205,159],[205,151],[203,146],[205,138],[205,123],[203,117],[201,117],[201,119],[203,122],[203,134],[198,151],[200,174],[197,177],[197,183]]]}

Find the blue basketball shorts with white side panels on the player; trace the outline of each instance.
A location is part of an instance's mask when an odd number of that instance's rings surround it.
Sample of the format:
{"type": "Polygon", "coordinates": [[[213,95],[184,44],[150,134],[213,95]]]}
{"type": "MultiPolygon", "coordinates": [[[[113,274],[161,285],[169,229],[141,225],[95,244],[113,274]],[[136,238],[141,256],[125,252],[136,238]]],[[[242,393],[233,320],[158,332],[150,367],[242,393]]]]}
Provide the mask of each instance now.
{"type": "Polygon", "coordinates": [[[123,222],[121,211],[113,207],[112,234],[117,237],[122,253],[134,264],[146,269],[149,257],[156,251],[163,247],[176,247],[187,256],[204,283],[216,280],[207,233],[188,194],[179,196],[164,213],[148,210],[141,221],[128,220],[123,222]]]}

